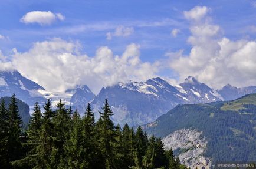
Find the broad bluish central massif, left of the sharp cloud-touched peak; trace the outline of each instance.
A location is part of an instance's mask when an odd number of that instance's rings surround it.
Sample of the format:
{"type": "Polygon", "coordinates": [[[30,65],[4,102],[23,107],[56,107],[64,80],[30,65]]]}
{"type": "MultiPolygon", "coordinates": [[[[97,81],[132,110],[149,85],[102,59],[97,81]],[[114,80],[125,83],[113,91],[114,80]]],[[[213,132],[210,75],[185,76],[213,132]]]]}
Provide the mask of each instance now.
{"type": "Polygon", "coordinates": [[[91,104],[97,112],[107,98],[114,112],[114,122],[137,125],[152,121],[170,107],[184,103],[180,94],[165,80],[155,78],[146,82],[130,81],[103,87],[91,104]]]}

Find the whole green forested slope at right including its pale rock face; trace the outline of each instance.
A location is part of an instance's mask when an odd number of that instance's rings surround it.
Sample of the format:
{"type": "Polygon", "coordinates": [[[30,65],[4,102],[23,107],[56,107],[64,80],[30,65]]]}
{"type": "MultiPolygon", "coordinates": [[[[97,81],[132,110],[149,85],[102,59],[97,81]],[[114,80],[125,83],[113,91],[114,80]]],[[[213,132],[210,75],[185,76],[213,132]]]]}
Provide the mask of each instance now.
{"type": "Polygon", "coordinates": [[[143,126],[163,138],[183,164],[212,167],[217,161],[256,160],[256,94],[233,101],[178,105],[143,126]]]}

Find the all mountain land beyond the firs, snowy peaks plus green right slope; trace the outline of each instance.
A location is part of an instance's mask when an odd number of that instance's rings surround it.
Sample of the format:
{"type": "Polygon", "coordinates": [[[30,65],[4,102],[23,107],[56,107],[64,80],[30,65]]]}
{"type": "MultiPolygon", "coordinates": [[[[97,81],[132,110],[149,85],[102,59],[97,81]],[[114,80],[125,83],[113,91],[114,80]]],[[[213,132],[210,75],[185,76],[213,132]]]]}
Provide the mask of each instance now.
{"type": "Polygon", "coordinates": [[[98,119],[107,98],[115,124],[143,125],[149,136],[161,137],[165,149],[172,148],[180,162],[191,168],[211,168],[224,160],[256,160],[256,152],[251,151],[256,150],[256,94],[251,94],[255,92],[256,86],[229,84],[215,90],[189,76],[176,86],[156,77],[103,87],[97,95],[87,85],[54,93],[17,71],[0,72],[0,97],[8,103],[6,96],[16,94],[24,123],[36,101],[42,106],[50,99],[55,109],[61,99],[82,116],[90,103],[98,119]]]}

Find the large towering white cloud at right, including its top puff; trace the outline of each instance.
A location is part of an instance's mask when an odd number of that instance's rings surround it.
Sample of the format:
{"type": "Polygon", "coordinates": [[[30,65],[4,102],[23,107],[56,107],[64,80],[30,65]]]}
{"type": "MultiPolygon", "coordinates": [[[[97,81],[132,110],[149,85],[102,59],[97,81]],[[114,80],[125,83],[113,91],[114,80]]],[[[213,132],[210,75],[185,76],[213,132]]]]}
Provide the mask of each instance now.
{"type": "Polygon", "coordinates": [[[188,43],[192,48],[188,56],[183,55],[182,50],[166,53],[170,67],[179,73],[180,80],[193,75],[216,88],[227,83],[239,87],[255,85],[256,42],[224,37],[221,28],[206,19],[209,10],[196,6],[184,12],[191,23],[188,43]]]}

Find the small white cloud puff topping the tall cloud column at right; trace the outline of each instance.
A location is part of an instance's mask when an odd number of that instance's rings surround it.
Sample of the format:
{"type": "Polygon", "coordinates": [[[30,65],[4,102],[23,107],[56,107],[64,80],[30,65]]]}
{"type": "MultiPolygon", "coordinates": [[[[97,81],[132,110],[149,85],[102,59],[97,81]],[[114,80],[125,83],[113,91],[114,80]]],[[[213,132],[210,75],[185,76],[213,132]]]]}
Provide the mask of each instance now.
{"type": "Polygon", "coordinates": [[[189,11],[184,11],[184,16],[186,19],[199,21],[203,19],[209,11],[210,9],[206,6],[195,6],[195,8],[189,11]]]}

